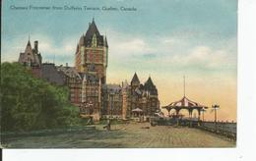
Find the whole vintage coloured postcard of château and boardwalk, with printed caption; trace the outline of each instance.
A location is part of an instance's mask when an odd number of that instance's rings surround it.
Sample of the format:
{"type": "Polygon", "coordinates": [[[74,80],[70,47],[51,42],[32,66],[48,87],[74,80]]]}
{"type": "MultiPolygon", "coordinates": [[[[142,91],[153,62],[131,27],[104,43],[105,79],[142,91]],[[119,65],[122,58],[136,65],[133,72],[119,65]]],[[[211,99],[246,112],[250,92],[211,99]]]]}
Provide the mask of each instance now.
{"type": "Polygon", "coordinates": [[[237,1],[2,2],[3,148],[236,147],[237,1]]]}

